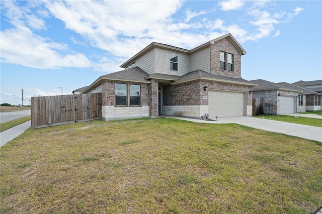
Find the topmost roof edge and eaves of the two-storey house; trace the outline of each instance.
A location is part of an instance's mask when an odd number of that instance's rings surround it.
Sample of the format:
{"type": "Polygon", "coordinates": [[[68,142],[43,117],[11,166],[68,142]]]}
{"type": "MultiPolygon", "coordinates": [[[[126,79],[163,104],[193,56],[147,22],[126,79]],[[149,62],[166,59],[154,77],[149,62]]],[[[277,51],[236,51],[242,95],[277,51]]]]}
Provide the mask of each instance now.
{"type": "Polygon", "coordinates": [[[126,62],[124,62],[120,67],[124,68],[126,65],[128,65],[129,63],[134,62],[136,59],[138,59],[140,56],[142,56],[143,54],[145,54],[146,52],[150,51],[151,49],[155,48],[155,47],[160,47],[160,48],[166,48],[169,50],[173,50],[173,51],[177,51],[177,52],[181,52],[181,53],[186,53],[186,54],[190,54],[193,53],[199,49],[202,49],[204,47],[210,46],[214,43],[216,43],[217,41],[220,41],[224,38],[227,38],[234,46],[235,48],[239,51],[240,55],[244,55],[246,54],[246,51],[244,50],[243,47],[240,46],[240,44],[236,41],[236,39],[230,34],[225,34],[221,37],[218,37],[216,39],[213,39],[209,42],[206,42],[196,48],[193,48],[191,50],[187,50],[184,48],[178,48],[172,45],[166,45],[166,44],[162,44],[162,43],[157,43],[157,42],[152,42],[150,43],[148,46],[146,46],[145,48],[143,48],[141,51],[139,51],[137,54],[135,54],[133,57],[131,57],[129,60],[127,60],[126,62]]]}

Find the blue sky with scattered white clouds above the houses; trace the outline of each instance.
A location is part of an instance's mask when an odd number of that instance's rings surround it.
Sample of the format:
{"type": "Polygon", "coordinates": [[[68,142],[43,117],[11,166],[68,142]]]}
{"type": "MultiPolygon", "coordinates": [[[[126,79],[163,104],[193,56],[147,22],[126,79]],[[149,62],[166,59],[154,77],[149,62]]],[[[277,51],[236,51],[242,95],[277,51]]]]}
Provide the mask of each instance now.
{"type": "Polygon", "coordinates": [[[192,49],[231,33],[247,80],[322,79],[321,1],[3,1],[1,100],[70,94],[151,42],[192,49]]]}

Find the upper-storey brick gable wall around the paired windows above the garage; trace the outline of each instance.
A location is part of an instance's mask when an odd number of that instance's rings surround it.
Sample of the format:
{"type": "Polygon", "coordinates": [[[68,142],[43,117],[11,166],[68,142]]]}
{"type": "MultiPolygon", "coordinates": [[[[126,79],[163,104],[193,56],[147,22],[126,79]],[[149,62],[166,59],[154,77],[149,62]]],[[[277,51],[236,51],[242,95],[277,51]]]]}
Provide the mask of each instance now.
{"type": "Polygon", "coordinates": [[[210,46],[210,73],[235,78],[241,77],[241,56],[227,38],[210,46]],[[220,51],[233,54],[233,71],[220,69],[220,51]]]}

